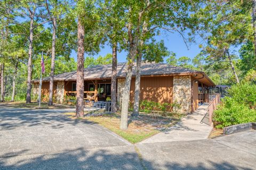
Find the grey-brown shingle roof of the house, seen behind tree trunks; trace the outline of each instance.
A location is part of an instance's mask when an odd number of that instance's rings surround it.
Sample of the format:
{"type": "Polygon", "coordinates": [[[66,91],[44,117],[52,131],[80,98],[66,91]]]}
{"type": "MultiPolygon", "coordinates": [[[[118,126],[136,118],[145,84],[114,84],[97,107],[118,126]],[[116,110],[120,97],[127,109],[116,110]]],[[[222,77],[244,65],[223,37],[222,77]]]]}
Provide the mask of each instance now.
{"type": "MultiPolygon", "coordinates": [[[[109,79],[111,78],[112,65],[98,65],[84,69],[84,79],[109,79]]],[[[136,63],[133,64],[132,75],[135,76],[136,63]]],[[[117,78],[125,77],[126,63],[117,64],[117,78]]],[[[143,62],[141,64],[141,76],[143,75],[172,75],[172,74],[193,74],[203,73],[200,71],[190,70],[187,68],[173,66],[165,63],[149,63],[143,62]]],[[[54,81],[74,81],[76,80],[76,71],[62,73],[54,76],[54,81]]],[[[34,80],[37,82],[38,80],[34,80]]],[[[43,81],[50,81],[50,77],[43,78],[43,81]]]]}

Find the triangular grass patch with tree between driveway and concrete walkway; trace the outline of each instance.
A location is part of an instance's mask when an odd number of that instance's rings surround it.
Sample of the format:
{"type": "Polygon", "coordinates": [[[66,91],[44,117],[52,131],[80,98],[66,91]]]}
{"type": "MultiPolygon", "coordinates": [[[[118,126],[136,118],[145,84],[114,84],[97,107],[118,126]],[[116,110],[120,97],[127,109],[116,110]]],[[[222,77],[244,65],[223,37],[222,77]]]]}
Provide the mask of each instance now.
{"type": "MultiPolygon", "coordinates": [[[[65,114],[69,115],[71,118],[75,118],[75,113],[65,114]]],[[[150,115],[140,115],[138,117],[132,117],[129,115],[129,125],[126,131],[119,129],[120,118],[121,115],[116,113],[101,116],[86,116],[81,119],[98,123],[101,126],[117,133],[127,141],[137,143],[154,134],[167,130],[177,123],[181,116],[173,115],[172,117],[153,117],[150,115]]]]}

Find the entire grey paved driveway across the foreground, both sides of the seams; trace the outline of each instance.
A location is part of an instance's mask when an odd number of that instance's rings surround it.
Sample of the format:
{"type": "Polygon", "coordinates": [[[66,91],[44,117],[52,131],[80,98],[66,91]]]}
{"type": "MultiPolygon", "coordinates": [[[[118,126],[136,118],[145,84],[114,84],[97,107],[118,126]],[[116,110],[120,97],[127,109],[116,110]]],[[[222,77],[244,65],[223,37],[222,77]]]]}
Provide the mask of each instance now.
{"type": "Polygon", "coordinates": [[[63,110],[0,107],[0,169],[256,169],[256,131],[131,145],[63,110]]]}

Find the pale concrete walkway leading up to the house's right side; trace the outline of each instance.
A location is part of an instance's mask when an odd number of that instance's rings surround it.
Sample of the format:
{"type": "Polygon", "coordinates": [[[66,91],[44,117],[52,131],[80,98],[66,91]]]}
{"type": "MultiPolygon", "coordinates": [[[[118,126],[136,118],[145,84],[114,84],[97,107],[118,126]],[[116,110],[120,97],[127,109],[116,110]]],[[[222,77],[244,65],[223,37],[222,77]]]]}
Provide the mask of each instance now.
{"type": "Polygon", "coordinates": [[[206,114],[207,107],[208,104],[203,104],[196,112],[183,117],[179,123],[172,126],[169,130],[160,132],[140,143],[207,139],[212,131],[212,127],[201,122],[206,114]]]}

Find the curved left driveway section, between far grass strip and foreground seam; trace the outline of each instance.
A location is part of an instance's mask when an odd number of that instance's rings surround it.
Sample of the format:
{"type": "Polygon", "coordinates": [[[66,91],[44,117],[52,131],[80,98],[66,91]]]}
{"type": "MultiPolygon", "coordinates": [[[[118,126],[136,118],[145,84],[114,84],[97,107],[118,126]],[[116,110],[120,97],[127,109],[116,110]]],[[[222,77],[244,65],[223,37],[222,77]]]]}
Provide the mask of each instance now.
{"type": "Polygon", "coordinates": [[[0,107],[0,156],[130,145],[98,124],[62,114],[68,111],[0,107]]]}

